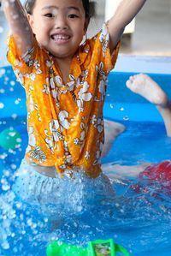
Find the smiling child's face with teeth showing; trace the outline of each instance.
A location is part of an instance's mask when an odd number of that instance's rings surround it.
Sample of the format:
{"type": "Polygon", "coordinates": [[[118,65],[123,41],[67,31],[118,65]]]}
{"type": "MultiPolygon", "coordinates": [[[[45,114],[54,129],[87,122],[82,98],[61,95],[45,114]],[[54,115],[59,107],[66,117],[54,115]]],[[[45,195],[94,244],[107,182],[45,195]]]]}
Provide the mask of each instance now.
{"type": "Polygon", "coordinates": [[[28,15],[38,43],[54,57],[73,57],[88,21],[81,0],[37,0],[28,15]]]}

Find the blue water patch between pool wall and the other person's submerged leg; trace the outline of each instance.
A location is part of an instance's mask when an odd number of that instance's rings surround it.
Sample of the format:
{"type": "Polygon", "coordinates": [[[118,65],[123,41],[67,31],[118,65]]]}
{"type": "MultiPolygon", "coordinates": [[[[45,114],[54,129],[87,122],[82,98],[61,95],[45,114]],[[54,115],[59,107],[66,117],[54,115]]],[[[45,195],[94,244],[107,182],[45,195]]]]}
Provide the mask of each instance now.
{"type": "Polygon", "coordinates": [[[113,143],[103,163],[135,165],[170,159],[171,138],[162,122],[122,122],[126,131],[113,143]]]}

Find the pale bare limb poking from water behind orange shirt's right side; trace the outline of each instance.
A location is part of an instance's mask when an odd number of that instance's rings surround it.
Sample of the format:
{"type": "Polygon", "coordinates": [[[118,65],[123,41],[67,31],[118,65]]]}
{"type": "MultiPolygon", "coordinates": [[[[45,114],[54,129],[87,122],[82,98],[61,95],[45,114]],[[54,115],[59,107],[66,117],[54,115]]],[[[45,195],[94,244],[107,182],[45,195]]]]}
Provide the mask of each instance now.
{"type": "Polygon", "coordinates": [[[102,157],[104,157],[110,150],[115,137],[121,134],[125,130],[125,126],[119,122],[112,122],[104,119],[104,132],[105,140],[103,146],[102,157]]]}

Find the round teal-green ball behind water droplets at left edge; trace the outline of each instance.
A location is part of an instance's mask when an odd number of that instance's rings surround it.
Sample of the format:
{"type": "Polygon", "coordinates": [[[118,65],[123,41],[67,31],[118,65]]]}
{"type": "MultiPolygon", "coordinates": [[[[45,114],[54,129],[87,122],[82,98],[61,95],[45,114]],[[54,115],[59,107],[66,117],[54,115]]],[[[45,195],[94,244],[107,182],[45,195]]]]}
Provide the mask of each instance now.
{"type": "Polygon", "coordinates": [[[6,128],[0,133],[0,146],[5,150],[15,149],[21,144],[21,134],[13,128],[6,128]]]}

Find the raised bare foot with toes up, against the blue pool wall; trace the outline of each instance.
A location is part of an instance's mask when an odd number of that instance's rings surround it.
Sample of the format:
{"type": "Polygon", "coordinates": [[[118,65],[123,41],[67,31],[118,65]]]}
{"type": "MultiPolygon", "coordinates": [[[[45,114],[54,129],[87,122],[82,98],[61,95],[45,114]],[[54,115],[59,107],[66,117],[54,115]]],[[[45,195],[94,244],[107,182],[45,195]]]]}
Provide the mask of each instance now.
{"type": "Polygon", "coordinates": [[[130,76],[126,82],[127,88],[143,96],[152,104],[167,106],[168,97],[162,88],[146,74],[130,76]]]}

